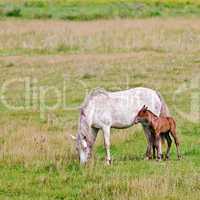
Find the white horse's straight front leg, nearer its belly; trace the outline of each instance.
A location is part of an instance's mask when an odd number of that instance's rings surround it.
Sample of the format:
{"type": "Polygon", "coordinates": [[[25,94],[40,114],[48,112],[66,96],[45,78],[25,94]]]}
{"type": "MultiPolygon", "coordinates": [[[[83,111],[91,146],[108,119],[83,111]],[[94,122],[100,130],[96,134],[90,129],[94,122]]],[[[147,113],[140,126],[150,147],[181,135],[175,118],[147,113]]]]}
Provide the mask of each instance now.
{"type": "Polygon", "coordinates": [[[111,155],[110,155],[110,127],[103,128],[103,136],[104,136],[104,146],[106,150],[106,164],[111,164],[111,155]]]}

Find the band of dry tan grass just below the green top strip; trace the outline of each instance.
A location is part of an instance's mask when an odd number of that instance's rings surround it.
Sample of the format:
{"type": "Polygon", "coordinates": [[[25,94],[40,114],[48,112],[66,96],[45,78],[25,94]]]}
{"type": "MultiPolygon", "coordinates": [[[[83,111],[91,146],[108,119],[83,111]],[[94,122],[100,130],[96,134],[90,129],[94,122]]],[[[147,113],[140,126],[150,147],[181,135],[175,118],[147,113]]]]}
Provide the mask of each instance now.
{"type": "Polygon", "coordinates": [[[199,51],[198,19],[2,21],[0,26],[0,51],[5,55],[199,51]]]}

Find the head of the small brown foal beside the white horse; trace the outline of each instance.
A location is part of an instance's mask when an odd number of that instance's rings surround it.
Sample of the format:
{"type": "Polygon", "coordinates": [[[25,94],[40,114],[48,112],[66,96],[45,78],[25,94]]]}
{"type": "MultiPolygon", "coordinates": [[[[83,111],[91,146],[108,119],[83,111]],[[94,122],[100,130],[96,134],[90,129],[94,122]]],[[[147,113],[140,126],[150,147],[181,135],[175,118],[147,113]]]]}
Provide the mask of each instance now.
{"type": "Polygon", "coordinates": [[[148,124],[150,121],[150,114],[151,113],[148,111],[148,107],[144,105],[135,117],[134,123],[148,124]]]}

